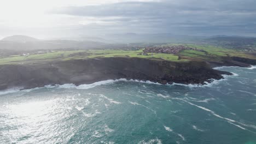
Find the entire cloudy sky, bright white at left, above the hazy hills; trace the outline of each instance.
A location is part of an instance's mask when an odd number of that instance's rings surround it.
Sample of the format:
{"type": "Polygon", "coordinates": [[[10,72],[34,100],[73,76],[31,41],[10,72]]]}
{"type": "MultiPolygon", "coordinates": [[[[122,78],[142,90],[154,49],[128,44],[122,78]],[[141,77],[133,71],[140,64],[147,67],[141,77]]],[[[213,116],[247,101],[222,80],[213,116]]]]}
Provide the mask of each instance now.
{"type": "Polygon", "coordinates": [[[255,0],[0,0],[0,38],[114,33],[256,37],[255,0]]]}

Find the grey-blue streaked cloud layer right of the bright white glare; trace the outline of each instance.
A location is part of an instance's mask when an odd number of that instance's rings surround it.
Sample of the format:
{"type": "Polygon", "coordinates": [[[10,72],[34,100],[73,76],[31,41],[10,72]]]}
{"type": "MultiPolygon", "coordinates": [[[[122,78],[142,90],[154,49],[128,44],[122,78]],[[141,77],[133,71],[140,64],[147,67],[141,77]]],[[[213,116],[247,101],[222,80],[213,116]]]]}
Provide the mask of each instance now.
{"type": "Polygon", "coordinates": [[[65,7],[51,13],[94,17],[94,27],[105,30],[114,26],[127,32],[246,35],[256,32],[255,5],[253,0],[135,1],[65,7]]]}

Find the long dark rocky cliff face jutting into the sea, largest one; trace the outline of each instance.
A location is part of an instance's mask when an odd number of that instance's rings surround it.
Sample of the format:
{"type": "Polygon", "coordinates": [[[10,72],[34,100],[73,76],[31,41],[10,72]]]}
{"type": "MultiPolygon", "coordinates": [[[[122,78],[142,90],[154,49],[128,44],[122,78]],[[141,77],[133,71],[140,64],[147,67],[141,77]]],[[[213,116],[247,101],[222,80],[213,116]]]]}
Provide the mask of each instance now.
{"type": "Polygon", "coordinates": [[[228,72],[205,62],[168,62],[143,58],[95,58],[44,64],[1,65],[0,89],[34,88],[74,83],[81,85],[108,79],[137,79],[166,83],[203,83],[222,79],[228,72]]]}

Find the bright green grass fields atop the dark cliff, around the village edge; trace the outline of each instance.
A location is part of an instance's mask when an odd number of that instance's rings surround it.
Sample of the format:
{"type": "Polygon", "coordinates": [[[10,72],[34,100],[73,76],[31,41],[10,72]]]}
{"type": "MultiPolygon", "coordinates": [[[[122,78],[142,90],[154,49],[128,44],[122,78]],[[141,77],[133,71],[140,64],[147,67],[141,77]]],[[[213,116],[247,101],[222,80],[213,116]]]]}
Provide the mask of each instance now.
{"type": "MultiPolygon", "coordinates": [[[[181,45],[181,44],[168,44],[168,45],[181,45]]],[[[148,56],[138,55],[143,52],[143,49],[137,51],[126,50],[79,50],[79,51],[54,51],[50,53],[34,54],[29,56],[10,56],[6,58],[0,58],[0,64],[17,64],[17,63],[30,63],[30,62],[44,62],[44,61],[66,61],[69,59],[85,59],[85,58],[100,58],[100,57],[138,57],[149,59],[164,59],[166,61],[173,62],[186,62],[193,61],[195,59],[200,61],[221,60],[225,56],[237,56],[254,58],[255,56],[249,53],[224,49],[222,47],[215,47],[210,45],[194,45],[194,44],[182,44],[188,47],[194,47],[203,51],[184,50],[178,53],[178,55],[167,53],[148,53],[148,56]],[[180,57],[180,58],[179,58],[180,57]]]]}

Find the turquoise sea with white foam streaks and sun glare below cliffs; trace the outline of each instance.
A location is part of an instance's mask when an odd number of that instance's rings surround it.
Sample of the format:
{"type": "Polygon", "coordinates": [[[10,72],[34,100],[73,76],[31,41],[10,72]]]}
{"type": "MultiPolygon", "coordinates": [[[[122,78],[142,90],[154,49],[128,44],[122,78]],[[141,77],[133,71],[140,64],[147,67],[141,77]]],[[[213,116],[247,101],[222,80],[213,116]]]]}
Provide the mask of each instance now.
{"type": "Polygon", "coordinates": [[[103,81],[0,92],[0,143],[256,143],[256,69],[206,86],[103,81]]]}

